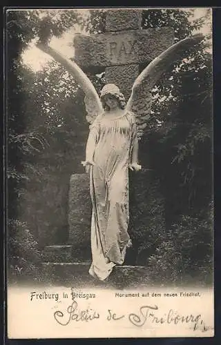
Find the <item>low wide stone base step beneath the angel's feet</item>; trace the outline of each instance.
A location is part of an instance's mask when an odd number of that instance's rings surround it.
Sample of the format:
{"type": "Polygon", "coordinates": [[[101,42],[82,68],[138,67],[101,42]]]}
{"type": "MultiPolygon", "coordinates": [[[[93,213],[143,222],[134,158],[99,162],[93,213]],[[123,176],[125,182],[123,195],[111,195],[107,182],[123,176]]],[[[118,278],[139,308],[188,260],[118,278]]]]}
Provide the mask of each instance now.
{"type": "Polygon", "coordinates": [[[90,277],[90,262],[48,262],[43,266],[45,282],[53,286],[119,289],[150,286],[148,268],[143,266],[115,266],[106,282],[90,277]]]}

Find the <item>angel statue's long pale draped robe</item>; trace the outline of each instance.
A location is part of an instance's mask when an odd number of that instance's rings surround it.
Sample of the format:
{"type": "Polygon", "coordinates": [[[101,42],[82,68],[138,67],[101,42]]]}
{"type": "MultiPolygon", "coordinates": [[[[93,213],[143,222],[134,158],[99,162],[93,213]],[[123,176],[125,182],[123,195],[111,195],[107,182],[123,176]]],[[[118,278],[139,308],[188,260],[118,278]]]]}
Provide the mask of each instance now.
{"type": "Polygon", "coordinates": [[[128,166],[137,135],[135,117],[125,112],[115,119],[101,115],[90,126],[86,157],[90,166],[92,264],[89,273],[106,279],[123,264],[128,235],[128,166]]]}

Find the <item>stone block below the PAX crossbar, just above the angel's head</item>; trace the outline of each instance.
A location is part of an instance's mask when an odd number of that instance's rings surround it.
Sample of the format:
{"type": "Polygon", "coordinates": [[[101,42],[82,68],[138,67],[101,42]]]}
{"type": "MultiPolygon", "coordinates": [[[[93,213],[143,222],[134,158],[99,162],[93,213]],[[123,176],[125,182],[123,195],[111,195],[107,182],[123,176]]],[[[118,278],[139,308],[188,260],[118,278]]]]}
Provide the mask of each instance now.
{"type": "Polygon", "coordinates": [[[124,65],[107,67],[105,70],[106,83],[115,83],[124,94],[126,101],[131,95],[131,88],[139,75],[139,65],[124,65]]]}

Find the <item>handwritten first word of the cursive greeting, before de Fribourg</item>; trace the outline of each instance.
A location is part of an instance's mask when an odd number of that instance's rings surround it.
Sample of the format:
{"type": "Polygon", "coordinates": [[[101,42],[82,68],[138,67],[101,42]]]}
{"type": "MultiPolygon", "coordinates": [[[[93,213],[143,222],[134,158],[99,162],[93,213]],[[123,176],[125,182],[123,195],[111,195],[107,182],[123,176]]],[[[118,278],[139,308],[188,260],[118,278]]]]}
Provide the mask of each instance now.
{"type": "Polygon", "coordinates": [[[62,311],[55,311],[55,320],[62,326],[67,326],[70,321],[75,320],[76,322],[88,322],[93,319],[99,319],[99,313],[93,311],[93,309],[87,308],[84,311],[77,309],[77,302],[73,300],[73,303],[67,308],[68,317],[66,318],[62,311]],[[63,322],[62,322],[63,321],[63,322]]]}

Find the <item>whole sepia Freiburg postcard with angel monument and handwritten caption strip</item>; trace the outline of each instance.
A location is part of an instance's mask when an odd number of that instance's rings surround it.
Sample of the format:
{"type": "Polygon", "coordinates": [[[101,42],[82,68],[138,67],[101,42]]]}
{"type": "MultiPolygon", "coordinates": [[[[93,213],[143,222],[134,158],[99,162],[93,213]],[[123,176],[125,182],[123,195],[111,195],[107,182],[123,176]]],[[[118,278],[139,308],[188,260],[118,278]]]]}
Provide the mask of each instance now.
{"type": "Polygon", "coordinates": [[[5,15],[8,338],[213,337],[212,9],[5,15]]]}

